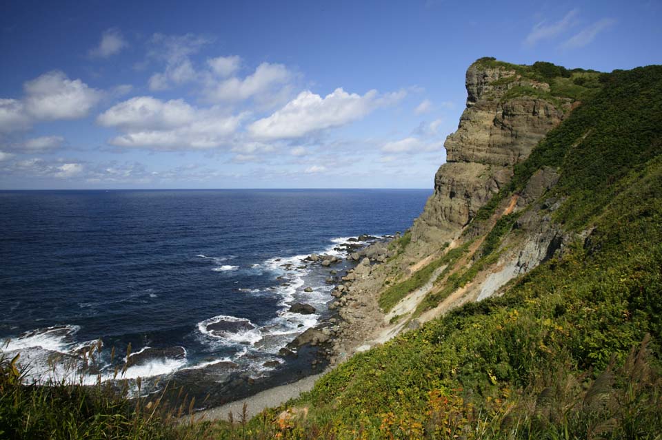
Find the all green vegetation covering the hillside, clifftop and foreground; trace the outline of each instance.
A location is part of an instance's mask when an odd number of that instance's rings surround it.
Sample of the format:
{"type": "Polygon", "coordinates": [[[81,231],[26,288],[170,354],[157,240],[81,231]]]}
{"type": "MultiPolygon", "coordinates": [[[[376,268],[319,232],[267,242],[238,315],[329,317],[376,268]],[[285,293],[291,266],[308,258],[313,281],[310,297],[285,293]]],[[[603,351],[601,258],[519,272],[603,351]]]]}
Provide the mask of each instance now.
{"type": "MultiPolygon", "coordinates": [[[[59,434],[66,423],[110,432],[100,438],[661,438],[662,66],[599,74],[501,64],[552,78],[552,96],[554,87],[566,87],[568,96],[577,86],[581,104],[515,166],[458,245],[440,243],[445,253],[432,266],[384,286],[381,305],[392,307],[434,274],[439,289],[421,302],[420,314],[490,271],[512,243],[526,240],[520,214],[536,211],[572,237],[562,252],[510,281],[501,295],[354,355],[312,392],[249,423],[175,430],[150,416],[149,429],[134,430],[146,420],[145,407],[96,405],[94,395],[72,396],[80,405],[72,407],[63,392],[57,398],[66,402],[57,405],[92,410],[62,412],[77,418],[59,420],[59,412],[46,410],[51,393],[17,386],[5,362],[0,432],[28,438],[21,423],[48,414],[54,421],[46,428],[56,438],[66,437],[59,434]],[[555,185],[519,213],[503,213],[541,169],[554,170],[555,185]],[[109,426],[126,430],[104,430],[109,426]]],[[[409,240],[405,234],[392,247],[409,240]]]]}

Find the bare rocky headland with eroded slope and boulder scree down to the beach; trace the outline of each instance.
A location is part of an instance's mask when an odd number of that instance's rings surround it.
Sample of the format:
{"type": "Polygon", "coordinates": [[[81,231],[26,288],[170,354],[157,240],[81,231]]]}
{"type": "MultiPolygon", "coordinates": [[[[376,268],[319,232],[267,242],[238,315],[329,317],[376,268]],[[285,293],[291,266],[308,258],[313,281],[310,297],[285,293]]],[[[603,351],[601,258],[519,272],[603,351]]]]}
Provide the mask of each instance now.
{"type": "MultiPolygon", "coordinates": [[[[510,280],[587,233],[565,233],[550,221],[559,201],[539,199],[559,178],[552,167],[536,171],[521,191],[499,200],[485,222],[472,224],[481,208],[508,185],[514,166],[580,104],[576,96],[552,91],[558,78],[532,73],[530,67],[494,59],[468,67],[466,108],[457,131],[445,141],[447,162],[437,171],[423,213],[402,237],[350,253],[348,260],[359,264],[341,274],[331,293],[329,308],[337,315],[297,337],[289,348],[321,346],[323,357],[335,366],[461,304],[499,294],[510,280]],[[483,265],[469,282],[449,289],[445,282],[477,260],[472,255],[482,249],[485,233],[508,216],[521,236],[504,242],[498,260],[483,265]],[[463,253],[455,261],[435,264],[452,249],[463,253]],[[394,288],[417,273],[424,273],[424,282],[404,285],[397,293],[394,288]],[[395,292],[390,302],[384,300],[389,287],[395,292]]],[[[281,353],[294,355],[289,349],[281,353]]]]}

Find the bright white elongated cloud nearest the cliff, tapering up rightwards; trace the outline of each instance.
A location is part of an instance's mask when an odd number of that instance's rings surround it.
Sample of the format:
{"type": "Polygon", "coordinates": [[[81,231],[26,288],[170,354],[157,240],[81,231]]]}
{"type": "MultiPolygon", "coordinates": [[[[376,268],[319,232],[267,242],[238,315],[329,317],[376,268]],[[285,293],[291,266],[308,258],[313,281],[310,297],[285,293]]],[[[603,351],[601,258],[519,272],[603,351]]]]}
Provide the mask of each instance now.
{"type": "Polygon", "coordinates": [[[299,138],[357,121],[377,107],[397,102],[403,96],[405,92],[378,96],[376,90],[361,96],[338,88],[322,98],[305,90],[268,118],[252,123],[248,132],[263,139],[299,138]]]}

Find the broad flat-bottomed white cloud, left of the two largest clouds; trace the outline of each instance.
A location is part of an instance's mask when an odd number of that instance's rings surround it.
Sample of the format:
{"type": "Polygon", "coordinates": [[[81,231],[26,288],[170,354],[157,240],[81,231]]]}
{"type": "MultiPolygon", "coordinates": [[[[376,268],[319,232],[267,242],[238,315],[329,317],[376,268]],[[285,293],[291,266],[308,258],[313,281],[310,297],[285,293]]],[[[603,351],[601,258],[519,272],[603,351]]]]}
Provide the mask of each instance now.
{"type": "Polygon", "coordinates": [[[117,147],[210,149],[225,145],[245,116],[228,115],[217,106],[199,109],[181,99],[137,96],[100,114],[97,123],[123,132],[110,140],[117,147]]]}

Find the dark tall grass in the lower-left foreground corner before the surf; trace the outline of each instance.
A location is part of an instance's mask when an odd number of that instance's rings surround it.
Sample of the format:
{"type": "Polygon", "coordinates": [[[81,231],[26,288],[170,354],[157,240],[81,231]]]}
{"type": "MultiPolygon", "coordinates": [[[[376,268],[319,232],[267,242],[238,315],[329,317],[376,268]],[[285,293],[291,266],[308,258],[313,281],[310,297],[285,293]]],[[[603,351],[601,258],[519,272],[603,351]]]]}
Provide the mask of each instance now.
{"type": "MultiPolygon", "coordinates": [[[[86,353],[90,364],[92,357],[86,353]]],[[[195,439],[201,432],[172,423],[190,410],[184,401],[179,408],[168,408],[160,396],[130,401],[126,382],[119,388],[110,381],[33,384],[18,359],[0,356],[1,439],[195,439]]]]}

